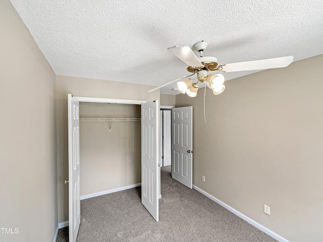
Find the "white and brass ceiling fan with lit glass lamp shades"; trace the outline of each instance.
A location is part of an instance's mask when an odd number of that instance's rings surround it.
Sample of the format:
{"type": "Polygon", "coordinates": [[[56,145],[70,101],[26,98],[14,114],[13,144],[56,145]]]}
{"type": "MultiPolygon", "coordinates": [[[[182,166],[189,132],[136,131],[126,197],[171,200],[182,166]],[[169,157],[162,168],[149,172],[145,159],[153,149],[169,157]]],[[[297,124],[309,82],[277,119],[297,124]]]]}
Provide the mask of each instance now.
{"type": "Polygon", "coordinates": [[[222,74],[207,74],[208,71],[218,71],[221,73],[225,73],[283,68],[291,64],[294,59],[294,56],[290,55],[278,58],[259,59],[257,61],[218,65],[218,59],[216,57],[203,56],[203,51],[205,50],[207,45],[208,43],[204,40],[197,42],[193,45],[193,49],[200,53],[199,58],[194,54],[194,52],[189,46],[174,46],[168,48],[168,50],[170,50],[173,54],[180,58],[181,61],[188,65],[187,71],[193,74],[181,77],[172,82],[154,88],[148,92],[152,92],[168,84],[197,74],[197,78],[195,79],[189,78],[185,81],[178,82],[177,87],[179,91],[181,93],[186,93],[190,97],[195,97],[197,95],[198,83],[205,82],[206,86],[212,89],[213,94],[218,95],[222,93],[225,89],[225,85],[223,85],[225,78],[222,74]]]}

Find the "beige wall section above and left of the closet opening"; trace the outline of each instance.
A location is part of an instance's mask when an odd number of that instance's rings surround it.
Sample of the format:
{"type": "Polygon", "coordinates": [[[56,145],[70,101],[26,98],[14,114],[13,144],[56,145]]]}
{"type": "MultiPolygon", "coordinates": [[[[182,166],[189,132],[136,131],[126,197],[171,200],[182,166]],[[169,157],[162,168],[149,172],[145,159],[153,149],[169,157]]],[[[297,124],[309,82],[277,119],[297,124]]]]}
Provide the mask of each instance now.
{"type": "Polygon", "coordinates": [[[57,165],[58,165],[58,219],[67,221],[68,217],[68,127],[67,94],[84,97],[103,97],[133,100],[158,100],[159,90],[148,93],[153,86],[107,80],[56,76],[57,90],[57,165]]]}

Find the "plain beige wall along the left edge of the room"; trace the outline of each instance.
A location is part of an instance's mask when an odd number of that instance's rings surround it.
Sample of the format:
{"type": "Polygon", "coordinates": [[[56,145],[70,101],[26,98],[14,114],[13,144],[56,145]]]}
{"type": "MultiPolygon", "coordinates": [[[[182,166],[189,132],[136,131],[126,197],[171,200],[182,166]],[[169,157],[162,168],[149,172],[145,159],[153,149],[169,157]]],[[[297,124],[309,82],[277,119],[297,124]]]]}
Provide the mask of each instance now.
{"type": "Polygon", "coordinates": [[[53,241],[57,228],[55,73],[0,0],[0,241],[53,241]]]}

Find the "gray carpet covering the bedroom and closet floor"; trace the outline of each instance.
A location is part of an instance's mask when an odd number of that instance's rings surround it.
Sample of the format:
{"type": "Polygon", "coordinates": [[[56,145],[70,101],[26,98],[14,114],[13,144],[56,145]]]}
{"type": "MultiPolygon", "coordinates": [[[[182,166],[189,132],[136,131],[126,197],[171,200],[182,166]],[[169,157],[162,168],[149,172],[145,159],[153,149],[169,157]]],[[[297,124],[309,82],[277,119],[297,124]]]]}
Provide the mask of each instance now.
{"type": "MultiPolygon", "coordinates": [[[[77,242],[96,241],[277,241],[189,189],[161,168],[159,222],[140,201],[140,187],[81,201],[77,242]]],[[[68,227],[58,242],[68,241],[68,227]]]]}

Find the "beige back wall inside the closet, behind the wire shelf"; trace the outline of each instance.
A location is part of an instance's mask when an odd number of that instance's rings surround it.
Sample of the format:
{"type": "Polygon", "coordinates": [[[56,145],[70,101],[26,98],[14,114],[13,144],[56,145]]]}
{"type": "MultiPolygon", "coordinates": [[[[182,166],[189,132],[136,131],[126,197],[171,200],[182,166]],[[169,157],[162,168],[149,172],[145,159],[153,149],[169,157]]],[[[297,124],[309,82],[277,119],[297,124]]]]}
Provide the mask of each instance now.
{"type": "MultiPolygon", "coordinates": [[[[140,118],[140,105],[81,102],[80,117],[140,118]]],[[[140,120],[80,122],[81,196],[141,183],[140,131],[140,120]]]]}

